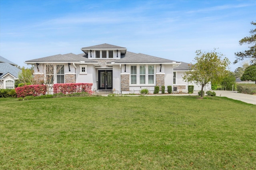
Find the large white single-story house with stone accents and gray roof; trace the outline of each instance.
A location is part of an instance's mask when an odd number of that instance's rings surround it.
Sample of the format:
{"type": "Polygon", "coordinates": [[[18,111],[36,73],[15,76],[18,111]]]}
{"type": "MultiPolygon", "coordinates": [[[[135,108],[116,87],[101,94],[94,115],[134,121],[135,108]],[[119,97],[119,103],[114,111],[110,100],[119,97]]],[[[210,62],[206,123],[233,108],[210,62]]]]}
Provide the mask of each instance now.
{"type": "MultiPolygon", "coordinates": [[[[188,83],[181,77],[189,70],[187,63],[132,53],[124,47],[110,44],[84,47],[81,50],[83,53],[78,55],[59,54],[25,63],[34,65],[34,78],[38,82],[46,82],[47,77],[54,75],[50,84],[93,83],[94,91],[109,90],[116,94],[139,93],[143,88],[153,93],[155,86],[166,86],[166,92],[167,86],[188,90],[188,83]],[[49,69],[51,66],[54,68],[49,69]],[[179,66],[184,68],[179,70],[179,66]],[[174,72],[177,77],[173,76],[174,72]]],[[[195,87],[194,90],[200,88],[195,87]]]]}

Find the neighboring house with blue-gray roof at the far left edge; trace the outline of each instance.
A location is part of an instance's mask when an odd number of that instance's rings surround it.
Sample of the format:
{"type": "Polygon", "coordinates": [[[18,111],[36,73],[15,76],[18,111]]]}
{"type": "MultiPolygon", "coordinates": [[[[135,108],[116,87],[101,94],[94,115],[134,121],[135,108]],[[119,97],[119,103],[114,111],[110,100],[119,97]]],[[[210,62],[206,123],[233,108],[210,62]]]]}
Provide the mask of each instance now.
{"type": "Polygon", "coordinates": [[[19,68],[17,64],[0,56],[0,89],[14,88],[15,80],[18,80],[19,68]]]}

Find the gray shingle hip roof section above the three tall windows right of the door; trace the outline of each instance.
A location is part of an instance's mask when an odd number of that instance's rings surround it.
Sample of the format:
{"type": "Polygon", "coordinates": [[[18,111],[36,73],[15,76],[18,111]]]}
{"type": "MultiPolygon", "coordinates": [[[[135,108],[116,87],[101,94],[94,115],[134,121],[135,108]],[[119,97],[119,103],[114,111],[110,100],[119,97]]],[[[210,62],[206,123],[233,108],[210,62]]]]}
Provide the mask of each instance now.
{"type": "Polygon", "coordinates": [[[171,63],[171,62],[175,62],[175,61],[138,53],[138,54],[129,55],[127,57],[119,59],[115,63],[171,63]]]}

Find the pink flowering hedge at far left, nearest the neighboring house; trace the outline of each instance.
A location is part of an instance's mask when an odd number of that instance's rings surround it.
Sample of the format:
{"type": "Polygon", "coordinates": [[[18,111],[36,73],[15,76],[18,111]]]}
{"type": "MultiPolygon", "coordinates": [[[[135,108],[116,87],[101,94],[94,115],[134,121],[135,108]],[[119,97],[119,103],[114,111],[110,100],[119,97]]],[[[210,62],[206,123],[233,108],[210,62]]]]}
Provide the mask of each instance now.
{"type": "Polygon", "coordinates": [[[25,96],[41,96],[45,95],[46,85],[27,85],[15,88],[17,98],[24,98],[25,96]]]}

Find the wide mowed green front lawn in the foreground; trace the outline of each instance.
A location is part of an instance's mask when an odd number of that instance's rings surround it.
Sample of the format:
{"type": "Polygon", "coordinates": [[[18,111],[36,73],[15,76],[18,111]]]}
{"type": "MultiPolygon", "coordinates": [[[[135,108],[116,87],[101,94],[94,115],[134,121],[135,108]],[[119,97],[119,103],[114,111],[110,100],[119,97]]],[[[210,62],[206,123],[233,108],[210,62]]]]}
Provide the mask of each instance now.
{"type": "Polygon", "coordinates": [[[256,106],[196,98],[0,98],[0,169],[256,169],[256,106]]]}

